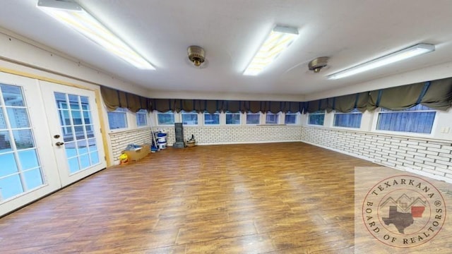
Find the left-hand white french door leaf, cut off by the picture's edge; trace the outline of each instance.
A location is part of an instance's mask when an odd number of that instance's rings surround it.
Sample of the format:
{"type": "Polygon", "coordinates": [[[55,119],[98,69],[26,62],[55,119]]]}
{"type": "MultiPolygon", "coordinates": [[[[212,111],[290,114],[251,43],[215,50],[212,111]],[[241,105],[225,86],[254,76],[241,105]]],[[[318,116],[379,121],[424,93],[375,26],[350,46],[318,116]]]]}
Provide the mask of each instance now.
{"type": "Polygon", "coordinates": [[[0,216],[61,188],[36,80],[0,72],[0,216]]]}

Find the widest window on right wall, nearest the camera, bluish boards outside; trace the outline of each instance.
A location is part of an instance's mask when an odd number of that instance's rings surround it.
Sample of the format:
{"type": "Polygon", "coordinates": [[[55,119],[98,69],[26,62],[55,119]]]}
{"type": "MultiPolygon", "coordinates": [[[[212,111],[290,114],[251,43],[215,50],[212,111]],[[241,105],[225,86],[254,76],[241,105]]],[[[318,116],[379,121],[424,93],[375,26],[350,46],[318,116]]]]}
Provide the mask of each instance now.
{"type": "Polygon", "coordinates": [[[381,109],[376,129],[410,133],[432,133],[436,111],[418,104],[410,109],[381,109]]]}

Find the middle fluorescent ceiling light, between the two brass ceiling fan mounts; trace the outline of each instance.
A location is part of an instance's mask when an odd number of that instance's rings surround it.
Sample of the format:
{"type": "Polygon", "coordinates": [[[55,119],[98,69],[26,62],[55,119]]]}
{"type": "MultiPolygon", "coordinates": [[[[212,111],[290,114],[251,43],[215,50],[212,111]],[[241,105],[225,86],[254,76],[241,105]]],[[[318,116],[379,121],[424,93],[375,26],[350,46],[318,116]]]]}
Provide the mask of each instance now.
{"type": "Polygon", "coordinates": [[[275,26],[249,63],[243,75],[258,75],[298,36],[297,28],[275,26]]]}

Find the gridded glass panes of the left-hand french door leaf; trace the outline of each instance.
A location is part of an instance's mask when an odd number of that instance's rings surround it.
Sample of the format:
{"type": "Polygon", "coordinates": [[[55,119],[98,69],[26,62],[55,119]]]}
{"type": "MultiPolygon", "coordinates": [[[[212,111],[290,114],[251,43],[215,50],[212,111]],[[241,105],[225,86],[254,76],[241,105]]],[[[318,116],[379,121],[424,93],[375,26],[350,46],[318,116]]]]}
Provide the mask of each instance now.
{"type": "Polygon", "coordinates": [[[23,89],[0,84],[0,202],[44,185],[23,89]]]}

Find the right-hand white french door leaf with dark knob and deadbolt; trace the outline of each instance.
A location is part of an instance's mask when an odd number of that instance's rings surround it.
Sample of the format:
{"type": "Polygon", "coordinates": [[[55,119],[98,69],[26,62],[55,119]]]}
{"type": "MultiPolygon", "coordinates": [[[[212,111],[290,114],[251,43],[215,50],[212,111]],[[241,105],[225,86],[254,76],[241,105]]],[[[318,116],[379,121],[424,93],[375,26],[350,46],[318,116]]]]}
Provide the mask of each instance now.
{"type": "Polygon", "coordinates": [[[41,81],[61,185],[105,169],[95,92],[41,81]]]}

